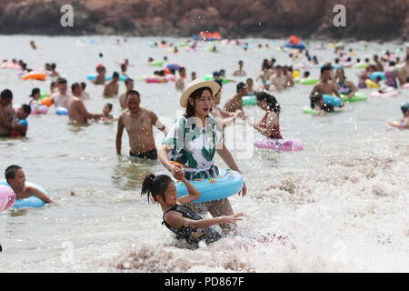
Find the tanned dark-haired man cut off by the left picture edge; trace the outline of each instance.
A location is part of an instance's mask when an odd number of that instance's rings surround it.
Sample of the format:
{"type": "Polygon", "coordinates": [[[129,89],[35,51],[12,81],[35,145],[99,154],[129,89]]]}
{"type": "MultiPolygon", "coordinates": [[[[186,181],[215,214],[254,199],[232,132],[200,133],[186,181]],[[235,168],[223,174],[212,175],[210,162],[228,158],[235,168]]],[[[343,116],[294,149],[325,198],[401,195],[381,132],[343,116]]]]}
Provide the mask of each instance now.
{"type": "Polygon", "coordinates": [[[10,137],[11,131],[18,126],[12,102],[13,93],[3,90],[0,94],[0,137],[10,137]]]}

